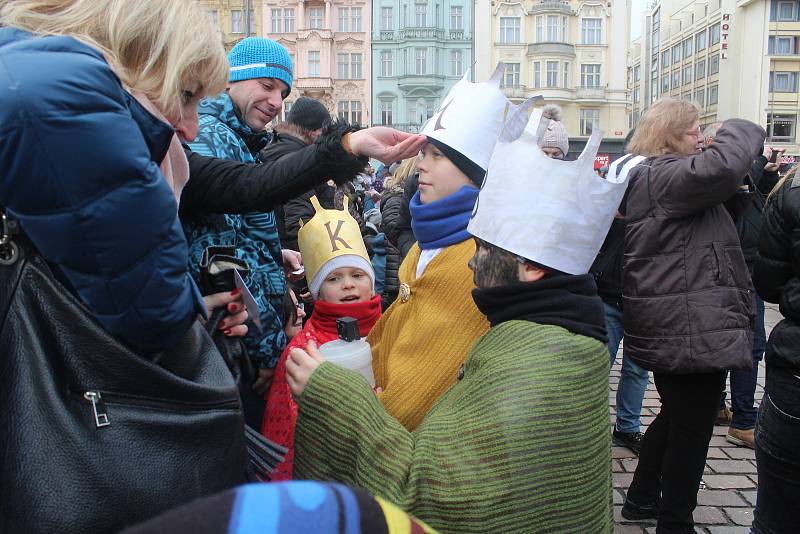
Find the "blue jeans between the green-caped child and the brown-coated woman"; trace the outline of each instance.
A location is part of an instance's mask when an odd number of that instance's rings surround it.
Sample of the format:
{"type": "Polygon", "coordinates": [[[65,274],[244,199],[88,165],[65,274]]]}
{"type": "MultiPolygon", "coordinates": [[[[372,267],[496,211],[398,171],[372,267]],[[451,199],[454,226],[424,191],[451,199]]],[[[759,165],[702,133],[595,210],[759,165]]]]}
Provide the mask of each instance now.
{"type": "MultiPolygon", "coordinates": [[[[610,365],[614,365],[619,342],[625,335],[622,327],[622,310],[603,302],[608,331],[608,354],[610,365]]],[[[620,432],[639,432],[639,417],[642,401],[647,390],[647,369],[642,369],[630,358],[622,357],[622,374],[617,385],[617,424],[620,432]]]]}

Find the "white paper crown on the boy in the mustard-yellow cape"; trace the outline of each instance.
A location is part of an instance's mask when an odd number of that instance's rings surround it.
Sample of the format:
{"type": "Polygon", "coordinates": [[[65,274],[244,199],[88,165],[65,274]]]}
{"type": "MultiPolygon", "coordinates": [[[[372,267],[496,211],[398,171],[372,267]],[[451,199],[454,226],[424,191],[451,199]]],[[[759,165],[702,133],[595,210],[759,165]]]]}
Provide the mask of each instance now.
{"type": "Polygon", "coordinates": [[[503,129],[506,108],[513,106],[500,90],[504,71],[505,64],[498,63],[488,81],[472,83],[468,69],[420,133],[457,150],[486,170],[494,140],[503,129]]]}

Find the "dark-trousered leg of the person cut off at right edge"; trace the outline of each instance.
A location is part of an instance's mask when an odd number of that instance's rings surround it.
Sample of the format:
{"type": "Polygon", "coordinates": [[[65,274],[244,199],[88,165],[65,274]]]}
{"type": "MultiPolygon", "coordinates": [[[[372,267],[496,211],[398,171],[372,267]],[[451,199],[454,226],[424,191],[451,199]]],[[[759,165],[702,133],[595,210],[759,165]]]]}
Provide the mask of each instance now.
{"type": "Polygon", "coordinates": [[[800,525],[800,380],[782,378],[767,379],[758,413],[754,534],[796,532],[800,525]]]}

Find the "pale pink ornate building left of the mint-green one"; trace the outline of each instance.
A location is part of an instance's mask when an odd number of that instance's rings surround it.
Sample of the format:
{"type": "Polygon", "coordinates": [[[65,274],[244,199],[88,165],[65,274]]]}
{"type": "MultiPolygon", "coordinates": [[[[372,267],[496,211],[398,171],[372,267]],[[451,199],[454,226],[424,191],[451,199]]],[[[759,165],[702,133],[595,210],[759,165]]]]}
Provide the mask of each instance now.
{"type": "Polygon", "coordinates": [[[320,100],[332,115],[369,124],[371,6],[360,0],[263,0],[264,35],[285,46],[294,61],[299,96],[320,100]]]}

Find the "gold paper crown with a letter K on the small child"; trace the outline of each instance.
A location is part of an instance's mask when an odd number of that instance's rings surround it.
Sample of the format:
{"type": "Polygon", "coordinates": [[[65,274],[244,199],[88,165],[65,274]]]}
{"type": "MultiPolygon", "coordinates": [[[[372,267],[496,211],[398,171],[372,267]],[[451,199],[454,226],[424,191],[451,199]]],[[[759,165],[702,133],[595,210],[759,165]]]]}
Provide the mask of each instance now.
{"type": "Polygon", "coordinates": [[[333,258],[355,255],[369,264],[361,229],[347,210],[347,197],[344,197],[344,210],[326,210],[319,205],[316,196],[311,197],[311,204],[316,213],[307,223],[301,219],[297,232],[297,244],[303,256],[309,285],[319,270],[333,258]]]}

